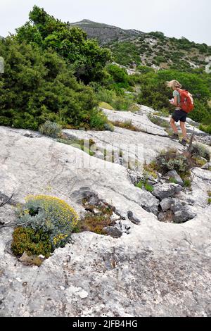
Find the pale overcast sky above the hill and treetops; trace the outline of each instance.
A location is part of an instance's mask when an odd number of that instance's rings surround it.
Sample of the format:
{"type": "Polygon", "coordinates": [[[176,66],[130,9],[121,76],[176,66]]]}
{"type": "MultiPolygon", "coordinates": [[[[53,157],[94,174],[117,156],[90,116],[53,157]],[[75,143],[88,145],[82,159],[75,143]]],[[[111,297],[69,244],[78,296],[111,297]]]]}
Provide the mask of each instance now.
{"type": "Polygon", "coordinates": [[[210,0],[0,0],[0,36],[23,25],[34,4],[64,21],[87,18],[211,45],[210,0]]]}

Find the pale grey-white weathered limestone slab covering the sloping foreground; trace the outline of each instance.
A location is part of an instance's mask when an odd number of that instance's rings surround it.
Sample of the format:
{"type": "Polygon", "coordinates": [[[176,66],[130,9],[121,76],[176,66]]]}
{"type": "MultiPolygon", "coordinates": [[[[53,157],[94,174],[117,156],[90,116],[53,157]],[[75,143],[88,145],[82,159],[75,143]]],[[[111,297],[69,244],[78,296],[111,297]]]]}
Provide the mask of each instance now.
{"type": "MultiPolygon", "coordinates": [[[[95,192],[115,206],[130,229],[120,239],[72,235],[72,244],[57,249],[38,268],[17,261],[10,251],[13,229],[0,227],[0,316],[210,316],[208,170],[193,169],[190,200],[197,216],[185,224],[160,223],[148,212],[155,212],[159,201],[134,187],[126,168],[21,132],[0,127],[1,194],[14,192],[16,202],[28,194],[58,196],[80,212],[79,197],[95,192]],[[89,167],[83,168],[82,160],[89,167]],[[128,211],[141,220],[139,225],[128,220],[128,211]]],[[[103,144],[141,141],[146,161],[160,149],[180,146],[119,128],[73,133],[103,144]]],[[[1,207],[0,221],[13,220],[14,208],[1,207]]]]}

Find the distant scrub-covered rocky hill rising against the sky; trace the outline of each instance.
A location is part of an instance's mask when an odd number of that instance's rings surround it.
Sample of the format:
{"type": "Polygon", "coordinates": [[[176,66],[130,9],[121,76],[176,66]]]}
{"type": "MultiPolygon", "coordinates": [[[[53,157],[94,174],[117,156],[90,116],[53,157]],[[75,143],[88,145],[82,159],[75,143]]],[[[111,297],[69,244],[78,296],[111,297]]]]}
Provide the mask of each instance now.
{"type": "Polygon", "coordinates": [[[202,68],[209,73],[211,46],[182,37],[166,37],[162,32],[144,33],[113,25],[82,20],[70,26],[81,27],[89,38],[111,49],[115,62],[126,66],[148,65],[154,68],[188,71],[202,68]]]}

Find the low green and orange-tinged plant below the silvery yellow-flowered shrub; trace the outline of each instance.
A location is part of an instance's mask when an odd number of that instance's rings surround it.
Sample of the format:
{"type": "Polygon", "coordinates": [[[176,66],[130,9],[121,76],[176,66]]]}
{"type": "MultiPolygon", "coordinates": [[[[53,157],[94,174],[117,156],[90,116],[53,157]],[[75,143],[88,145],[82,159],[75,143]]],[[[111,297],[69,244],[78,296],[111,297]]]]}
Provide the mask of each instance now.
{"type": "Polygon", "coordinates": [[[49,257],[53,251],[49,235],[43,230],[35,231],[31,227],[16,227],[13,232],[11,250],[15,256],[27,255],[39,256],[40,254],[49,257]]]}

